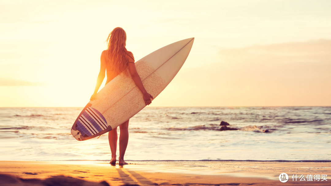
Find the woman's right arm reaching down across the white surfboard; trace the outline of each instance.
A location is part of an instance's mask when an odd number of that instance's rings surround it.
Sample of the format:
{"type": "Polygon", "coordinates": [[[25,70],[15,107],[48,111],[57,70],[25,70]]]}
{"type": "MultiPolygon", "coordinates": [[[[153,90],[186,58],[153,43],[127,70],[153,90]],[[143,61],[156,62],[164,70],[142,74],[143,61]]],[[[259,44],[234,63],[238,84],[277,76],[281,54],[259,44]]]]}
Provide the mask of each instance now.
{"type": "MultiPolygon", "coordinates": [[[[131,55],[132,55],[132,53],[131,53],[131,55]]],[[[145,101],[145,104],[146,105],[151,104],[152,103],[151,98],[152,99],[154,99],[154,98],[151,94],[147,93],[143,83],[141,82],[141,79],[137,72],[136,66],[134,65],[134,59],[131,56],[128,58],[128,67],[129,67],[129,71],[130,71],[132,80],[137,85],[137,87],[140,89],[140,91],[143,93],[143,99],[145,101]]]]}

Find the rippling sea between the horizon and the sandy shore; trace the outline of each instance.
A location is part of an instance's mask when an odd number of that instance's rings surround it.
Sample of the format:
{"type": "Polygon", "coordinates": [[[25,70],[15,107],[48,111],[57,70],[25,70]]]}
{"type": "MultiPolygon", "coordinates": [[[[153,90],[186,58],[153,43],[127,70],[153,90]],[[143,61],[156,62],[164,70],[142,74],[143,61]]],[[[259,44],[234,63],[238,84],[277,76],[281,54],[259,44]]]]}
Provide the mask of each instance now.
{"type": "MultiPolygon", "coordinates": [[[[109,161],[107,133],[71,135],[81,110],[0,108],[0,160],[109,161]]],[[[124,158],[331,161],[330,134],[331,107],[146,107],[130,119],[124,158]],[[221,121],[238,130],[220,131],[221,121]]]]}

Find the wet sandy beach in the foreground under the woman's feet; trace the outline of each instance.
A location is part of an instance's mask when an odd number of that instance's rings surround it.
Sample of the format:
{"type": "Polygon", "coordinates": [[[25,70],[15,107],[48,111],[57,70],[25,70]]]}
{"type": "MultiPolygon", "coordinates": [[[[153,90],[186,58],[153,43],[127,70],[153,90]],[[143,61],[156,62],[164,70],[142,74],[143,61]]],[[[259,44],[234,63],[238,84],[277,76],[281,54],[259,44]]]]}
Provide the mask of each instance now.
{"type": "Polygon", "coordinates": [[[331,173],[331,162],[132,161],[112,166],[101,161],[1,161],[2,185],[330,185],[307,181],[308,174],[331,173]],[[279,181],[287,173],[286,183],[279,181]],[[306,181],[292,180],[292,175],[306,181]],[[72,177],[72,178],[71,178],[72,177]]]}

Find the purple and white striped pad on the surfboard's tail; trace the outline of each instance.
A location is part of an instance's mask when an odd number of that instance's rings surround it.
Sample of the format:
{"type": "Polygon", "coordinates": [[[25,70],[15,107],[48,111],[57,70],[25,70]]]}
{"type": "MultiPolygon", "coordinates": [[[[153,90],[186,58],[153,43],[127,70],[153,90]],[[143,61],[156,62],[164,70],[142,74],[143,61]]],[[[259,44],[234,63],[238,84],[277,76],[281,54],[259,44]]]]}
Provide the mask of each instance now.
{"type": "Polygon", "coordinates": [[[92,107],[87,107],[76,122],[76,129],[85,137],[97,134],[107,128],[106,119],[92,107]]]}

